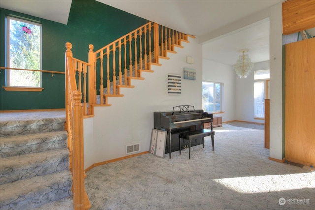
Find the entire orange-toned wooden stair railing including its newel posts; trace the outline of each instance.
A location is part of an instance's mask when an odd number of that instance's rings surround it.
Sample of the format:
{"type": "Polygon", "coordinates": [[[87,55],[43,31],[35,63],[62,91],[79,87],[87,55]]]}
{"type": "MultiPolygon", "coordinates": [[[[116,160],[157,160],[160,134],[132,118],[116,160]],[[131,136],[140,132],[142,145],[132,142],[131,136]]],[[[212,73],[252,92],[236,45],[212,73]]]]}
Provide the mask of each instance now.
{"type": "Polygon", "coordinates": [[[181,42],[189,43],[188,36],[149,22],[95,52],[90,44],[88,62],[73,58],[72,45],[66,43],[65,128],[68,131],[74,210],[91,207],[84,188],[83,117],[93,114],[97,92],[100,93],[99,105],[109,106],[108,97],[123,96],[120,88],[132,88],[132,79],[144,79],[142,72],[153,72],[151,65],[160,65],[160,58],[168,59],[167,53],[176,53],[174,47],[182,48],[181,42]]]}

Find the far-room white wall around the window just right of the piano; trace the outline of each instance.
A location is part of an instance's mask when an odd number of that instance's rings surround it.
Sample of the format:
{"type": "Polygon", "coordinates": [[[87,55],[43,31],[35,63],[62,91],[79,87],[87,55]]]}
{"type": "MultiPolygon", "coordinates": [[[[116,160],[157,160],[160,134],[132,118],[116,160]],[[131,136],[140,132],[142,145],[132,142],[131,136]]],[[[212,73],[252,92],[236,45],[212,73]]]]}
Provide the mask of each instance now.
{"type": "Polygon", "coordinates": [[[235,120],[235,76],[231,66],[221,64],[207,59],[202,60],[202,81],[221,82],[224,85],[224,107],[223,114],[214,114],[222,116],[222,121],[235,120]]]}

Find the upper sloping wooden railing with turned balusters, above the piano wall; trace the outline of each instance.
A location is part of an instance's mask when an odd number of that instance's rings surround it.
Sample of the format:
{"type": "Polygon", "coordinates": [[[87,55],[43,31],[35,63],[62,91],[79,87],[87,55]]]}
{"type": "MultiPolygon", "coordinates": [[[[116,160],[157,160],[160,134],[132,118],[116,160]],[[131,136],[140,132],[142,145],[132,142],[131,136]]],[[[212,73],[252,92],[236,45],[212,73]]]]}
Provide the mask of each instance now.
{"type": "MultiPolygon", "coordinates": [[[[182,47],[181,42],[188,42],[187,37],[149,22],[95,51],[95,90],[94,94],[89,92],[89,102],[97,102],[97,92],[100,105],[108,105],[108,97],[123,96],[120,88],[132,88],[132,79],[143,79],[142,72],[153,72],[151,65],[158,65],[158,59],[166,58],[167,52],[175,53],[174,47],[182,47]]],[[[89,105],[89,114],[90,108],[89,105]]]]}

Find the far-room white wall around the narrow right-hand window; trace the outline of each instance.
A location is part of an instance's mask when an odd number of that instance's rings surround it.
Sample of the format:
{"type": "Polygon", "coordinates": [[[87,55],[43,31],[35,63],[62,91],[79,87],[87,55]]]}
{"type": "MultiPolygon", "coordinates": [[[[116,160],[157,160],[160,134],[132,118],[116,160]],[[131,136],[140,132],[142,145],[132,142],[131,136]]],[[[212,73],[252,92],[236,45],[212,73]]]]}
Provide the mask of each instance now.
{"type": "MultiPolygon", "coordinates": [[[[254,119],[254,71],[269,69],[269,61],[255,63],[250,74],[245,79],[235,75],[235,120],[264,123],[264,120],[254,119]]],[[[234,71],[235,72],[235,71],[234,71]]]]}

